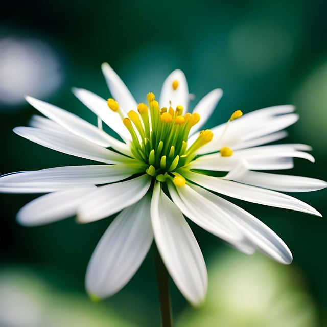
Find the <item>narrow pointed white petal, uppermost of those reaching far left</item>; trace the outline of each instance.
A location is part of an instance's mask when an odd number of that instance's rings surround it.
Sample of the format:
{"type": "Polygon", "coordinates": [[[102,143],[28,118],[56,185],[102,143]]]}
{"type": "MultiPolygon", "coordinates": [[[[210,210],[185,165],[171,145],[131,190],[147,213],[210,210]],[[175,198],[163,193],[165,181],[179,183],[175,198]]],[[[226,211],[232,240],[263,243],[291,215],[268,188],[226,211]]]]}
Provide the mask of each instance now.
{"type": "MultiPolygon", "coordinates": [[[[96,143],[102,147],[107,148],[109,146],[113,146],[112,136],[81,119],[79,116],[32,97],[26,97],[26,101],[45,116],[63,126],[69,132],[85,138],[88,141],[96,143]]],[[[117,140],[115,141],[118,142],[117,140]]]]}

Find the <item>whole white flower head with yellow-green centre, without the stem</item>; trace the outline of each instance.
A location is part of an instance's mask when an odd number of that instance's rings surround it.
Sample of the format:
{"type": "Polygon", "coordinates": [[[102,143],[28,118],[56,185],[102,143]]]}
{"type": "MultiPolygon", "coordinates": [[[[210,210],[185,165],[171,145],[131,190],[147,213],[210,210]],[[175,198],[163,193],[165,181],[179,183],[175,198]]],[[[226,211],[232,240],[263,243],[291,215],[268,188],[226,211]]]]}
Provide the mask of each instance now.
{"type": "Polygon", "coordinates": [[[99,127],[27,97],[47,118],[34,116],[30,127],[17,127],[15,133],[101,165],[2,176],[1,192],[48,193],[21,208],[18,221],[32,226],[77,215],[86,223],[120,212],[86,272],[88,293],[100,298],[124,287],[154,239],[181,293],[195,305],[203,301],[206,266],[184,215],[242,252],[259,250],[289,264],[290,250],[271,229],[216,193],[321,216],[308,204],[276,191],[319,190],[326,186],[324,181],[258,172],[292,168],[294,157],[314,161],[303,152],[310,150],[307,145],[263,146],[286,136],[283,129],[298,119],[294,108],[276,106],[244,116],[236,111],[226,124],[199,132],[222,96],[220,89],[209,92],[192,114],[187,113],[188,85],[176,70],[165,80],[159,103],[148,94],[148,107],[136,103],[108,64],[102,69],[114,99],[106,101],[85,89],[74,89],[75,96],[98,116],[99,127]],[[105,133],[102,122],[121,140],[105,133]],[[215,177],[217,172],[223,177],[215,177]]]}

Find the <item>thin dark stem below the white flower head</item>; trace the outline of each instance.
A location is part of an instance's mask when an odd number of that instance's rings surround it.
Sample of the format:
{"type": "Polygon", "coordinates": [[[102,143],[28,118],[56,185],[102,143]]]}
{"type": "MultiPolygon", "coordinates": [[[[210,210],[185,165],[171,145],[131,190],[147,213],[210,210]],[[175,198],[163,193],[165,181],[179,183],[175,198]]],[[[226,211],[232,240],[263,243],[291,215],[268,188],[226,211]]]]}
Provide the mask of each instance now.
{"type": "Polygon", "coordinates": [[[172,327],[173,316],[169,295],[168,272],[155,244],[153,244],[153,252],[159,290],[162,327],[172,327]]]}

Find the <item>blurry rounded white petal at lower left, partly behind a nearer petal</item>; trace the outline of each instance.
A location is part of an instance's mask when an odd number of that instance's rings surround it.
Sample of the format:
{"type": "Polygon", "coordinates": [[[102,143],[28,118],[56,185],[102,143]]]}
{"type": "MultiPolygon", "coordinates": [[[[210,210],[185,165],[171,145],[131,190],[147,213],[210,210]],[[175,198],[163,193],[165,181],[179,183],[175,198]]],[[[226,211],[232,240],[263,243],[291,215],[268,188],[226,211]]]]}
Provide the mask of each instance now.
{"type": "Polygon", "coordinates": [[[22,207],[17,220],[25,226],[37,226],[73,216],[78,204],[94,189],[95,186],[88,186],[45,194],[22,207]]]}

